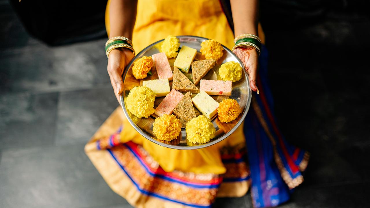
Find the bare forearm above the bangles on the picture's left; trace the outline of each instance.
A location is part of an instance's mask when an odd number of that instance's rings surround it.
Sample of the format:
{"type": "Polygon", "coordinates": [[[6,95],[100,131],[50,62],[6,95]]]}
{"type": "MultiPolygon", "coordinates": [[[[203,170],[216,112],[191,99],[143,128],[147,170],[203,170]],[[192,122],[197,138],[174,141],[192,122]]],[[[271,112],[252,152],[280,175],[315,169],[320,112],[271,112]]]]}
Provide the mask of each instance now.
{"type": "Polygon", "coordinates": [[[111,0],[109,6],[110,38],[124,36],[132,39],[137,0],[111,0]]]}

